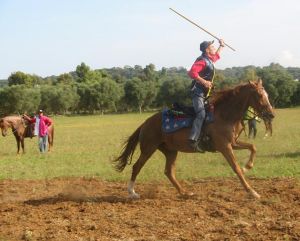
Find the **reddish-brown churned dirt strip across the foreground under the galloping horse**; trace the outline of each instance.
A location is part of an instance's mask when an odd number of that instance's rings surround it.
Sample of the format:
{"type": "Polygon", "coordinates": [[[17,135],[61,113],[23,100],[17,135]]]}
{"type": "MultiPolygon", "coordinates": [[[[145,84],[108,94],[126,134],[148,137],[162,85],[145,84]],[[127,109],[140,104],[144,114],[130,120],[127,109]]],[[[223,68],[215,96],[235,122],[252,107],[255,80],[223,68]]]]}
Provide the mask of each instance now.
{"type": "Polygon", "coordinates": [[[68,178],[0,181],[0,240],[300,240],[298,179],[251,179],[261,200],[235,178],[184,182],[182,198],[167,182],[68,178]]]}

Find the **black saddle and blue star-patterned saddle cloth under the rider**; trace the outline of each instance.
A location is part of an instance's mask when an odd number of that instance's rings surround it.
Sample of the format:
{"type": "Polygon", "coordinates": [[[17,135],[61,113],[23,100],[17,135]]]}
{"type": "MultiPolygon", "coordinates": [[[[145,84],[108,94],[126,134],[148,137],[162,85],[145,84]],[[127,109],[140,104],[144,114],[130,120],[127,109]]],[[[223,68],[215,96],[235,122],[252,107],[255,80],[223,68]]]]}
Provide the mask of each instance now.
{"type": "MultiPolygon", "coordinates": [[[[211,137],[207,135],[205,126],[214,121],[213,106],[209,103],[205,104],[205,121],[202,126],[201,135],[198,145],[204,151],[215,152],[211,137]]],[[[166,133],[175,132],[182,128],[190,128],[196,117],[196,113],[192,106],[185,106],[175,102],[171,109],[162,112],[162,130],[166,133]]]]}

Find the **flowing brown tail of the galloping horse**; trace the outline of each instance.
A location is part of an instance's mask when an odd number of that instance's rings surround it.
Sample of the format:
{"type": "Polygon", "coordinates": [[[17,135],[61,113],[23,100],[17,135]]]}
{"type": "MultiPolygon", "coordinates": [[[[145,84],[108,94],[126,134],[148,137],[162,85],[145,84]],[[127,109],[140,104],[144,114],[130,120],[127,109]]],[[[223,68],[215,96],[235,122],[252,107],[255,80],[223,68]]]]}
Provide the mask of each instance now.
{"type": "Polygon", "coordinates": [[[130,137],[128,137],[128,139],[124,143],[121,155],[113,160],[113,162],[115,163],[115,169],[118,172],[122,172],[126,165],[129,165],[131,163],[135,148],[139,142],[141,128],[142,126],[137,128],[136,131],[130,137]]]}

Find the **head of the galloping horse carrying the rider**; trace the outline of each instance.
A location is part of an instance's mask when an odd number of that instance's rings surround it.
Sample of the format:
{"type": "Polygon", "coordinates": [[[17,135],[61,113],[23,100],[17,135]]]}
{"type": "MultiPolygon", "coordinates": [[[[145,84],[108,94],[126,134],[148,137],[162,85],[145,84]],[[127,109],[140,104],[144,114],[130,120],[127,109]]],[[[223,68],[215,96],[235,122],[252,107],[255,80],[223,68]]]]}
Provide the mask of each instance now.
{"type": "Polygon", "coordinates": [[[271,123],[275,117],[274,110],[270,104],[268,93],[262,85],[262,80],[258,79],[257,82],[249,82],[251,86],[251,97],[249,99],[249,105],[254,108],[258,116],[264,121],[271,123]]]}

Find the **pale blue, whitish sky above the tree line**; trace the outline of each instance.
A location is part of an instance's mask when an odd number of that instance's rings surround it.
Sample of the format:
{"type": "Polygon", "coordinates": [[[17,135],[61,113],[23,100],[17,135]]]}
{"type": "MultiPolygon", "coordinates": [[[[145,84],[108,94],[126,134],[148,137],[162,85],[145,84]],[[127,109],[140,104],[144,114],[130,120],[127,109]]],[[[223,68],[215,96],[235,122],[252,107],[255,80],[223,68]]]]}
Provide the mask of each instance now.
{"type": "Polygon", "coordinates": [[[0,0],[0,79],[59,75],[81,62],[190,68],[213,38],[170,7],[236,49],[223,50],[219,69],[300,67],[299,0],[0,0]]]}

